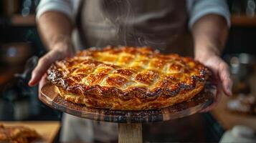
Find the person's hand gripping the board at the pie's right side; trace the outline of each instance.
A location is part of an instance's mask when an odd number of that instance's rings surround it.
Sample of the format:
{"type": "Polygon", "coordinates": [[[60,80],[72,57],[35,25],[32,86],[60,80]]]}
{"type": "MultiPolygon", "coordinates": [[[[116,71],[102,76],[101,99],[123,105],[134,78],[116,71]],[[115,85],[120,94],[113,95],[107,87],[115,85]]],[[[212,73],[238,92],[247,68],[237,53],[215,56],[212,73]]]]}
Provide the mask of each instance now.
{"type": "Polygon", "coordinates": [[[208,112],[219,102],[222,94],[232,96],[232,79],[229,73],[229,66],[218,54],[211,52],[199,54],[195,59],[207,66],[213,72],[214,80],[217,82],[217,97],[215,98],[214,103],[202,111],[208,112]]]}

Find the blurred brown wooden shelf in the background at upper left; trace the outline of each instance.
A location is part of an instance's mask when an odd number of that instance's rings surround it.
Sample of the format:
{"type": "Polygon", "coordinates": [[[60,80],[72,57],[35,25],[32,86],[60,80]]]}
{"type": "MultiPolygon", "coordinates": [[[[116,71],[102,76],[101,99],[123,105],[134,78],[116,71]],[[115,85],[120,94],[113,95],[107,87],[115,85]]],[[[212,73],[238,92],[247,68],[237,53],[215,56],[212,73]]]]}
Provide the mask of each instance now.
{"type": "Polygon", "coordinates": [[[30,14],[28,16],[22,16],[20,14],[16,14],[11,16],[11,26],[35,26],[36,19],[35,14],[30,14]]]}

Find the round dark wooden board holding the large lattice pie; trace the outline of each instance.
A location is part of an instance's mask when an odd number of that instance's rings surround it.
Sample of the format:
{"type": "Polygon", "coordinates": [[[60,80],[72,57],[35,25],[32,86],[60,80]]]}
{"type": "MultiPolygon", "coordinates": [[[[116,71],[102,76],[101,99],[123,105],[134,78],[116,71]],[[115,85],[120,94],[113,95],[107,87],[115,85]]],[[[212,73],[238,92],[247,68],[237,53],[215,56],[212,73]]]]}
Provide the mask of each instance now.
{"type": "Polygon", "coordinates": [[[204,91],[200,92],[193,99],[171,107],[143,111],[117,111],[95,109],[85,107],[82,104],[67,102],[60,97],[56,88],[52,84],[45,84],[41,89],[39,99],[53,109],[58,109],[77,117],[118,123],[161,122],[186,117],[208,107],[214,102],[214,97],[217,94],[216,86],[207,83],[204,91]]]}

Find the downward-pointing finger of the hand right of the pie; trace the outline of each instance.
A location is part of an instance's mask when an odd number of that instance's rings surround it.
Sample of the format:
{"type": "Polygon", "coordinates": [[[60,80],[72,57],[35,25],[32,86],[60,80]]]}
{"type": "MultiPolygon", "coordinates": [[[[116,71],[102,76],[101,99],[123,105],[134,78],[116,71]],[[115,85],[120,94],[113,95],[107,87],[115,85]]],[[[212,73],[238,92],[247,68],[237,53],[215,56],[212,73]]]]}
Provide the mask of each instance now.
{"type": "Polygon", "coordinates": [[[232,79],[229,73],[229,66],[224,61],[219,65],[219,78],[222,82],[224,94],[232,96],[232,79]]]}

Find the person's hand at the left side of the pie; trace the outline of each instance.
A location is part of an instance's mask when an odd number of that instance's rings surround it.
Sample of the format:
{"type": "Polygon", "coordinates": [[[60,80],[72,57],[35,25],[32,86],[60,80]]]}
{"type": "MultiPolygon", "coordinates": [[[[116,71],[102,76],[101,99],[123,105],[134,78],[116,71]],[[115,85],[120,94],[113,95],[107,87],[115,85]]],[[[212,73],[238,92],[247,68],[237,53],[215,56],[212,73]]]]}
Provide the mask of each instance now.
{"type": "Polygon", "coordinates": [[[57,42],[54,44],[51,50],[39,59],[37,66],[32,71],[29,86],[33,87],[37,85],[41,79],[44,80],[44,74],[54,61],[65,59],[65,57],[72,56],[74,53],[72,44],[67,44],[67,42],[57,42]]]}

